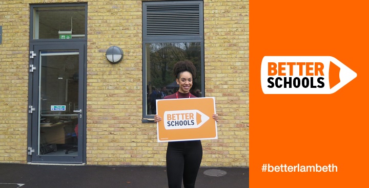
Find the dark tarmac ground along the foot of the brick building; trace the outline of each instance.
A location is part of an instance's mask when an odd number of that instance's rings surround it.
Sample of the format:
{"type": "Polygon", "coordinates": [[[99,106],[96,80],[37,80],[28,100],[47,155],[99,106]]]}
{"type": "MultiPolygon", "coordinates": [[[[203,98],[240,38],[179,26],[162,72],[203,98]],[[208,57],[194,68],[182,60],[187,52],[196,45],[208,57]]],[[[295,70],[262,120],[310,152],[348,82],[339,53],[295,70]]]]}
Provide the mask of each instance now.
{"type": "MultiPolygon", "coordinates": [[[[0,163],[0,188],[166,188],[165,167],[0,163]]],[[[196,188],[248,188],[249,168],[200,168],[196,188]]]]}

